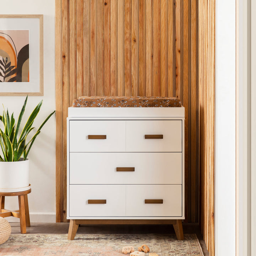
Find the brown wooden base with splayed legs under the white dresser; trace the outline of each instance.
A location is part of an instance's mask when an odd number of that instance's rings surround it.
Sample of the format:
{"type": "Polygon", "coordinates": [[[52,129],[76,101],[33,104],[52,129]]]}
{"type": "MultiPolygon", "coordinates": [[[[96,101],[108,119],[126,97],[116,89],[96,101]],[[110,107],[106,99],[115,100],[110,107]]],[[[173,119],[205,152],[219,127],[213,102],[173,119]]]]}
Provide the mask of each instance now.
{"type": "Polygon", "coordinates": [[[116,220],[107,220],[107,219],[71,219],[69,223],[68,231],[68,240],[74,240],[76,231],[78,230],[79,224],[86,225],[97,225],[97,224],[172,224],[174,226],[175,234],[178,240],[184,240],[183,229],[182,229],[182,220],[181,219],[170,219],[170,220],[135,220],[135,219],[116,219],[116,220]]]}

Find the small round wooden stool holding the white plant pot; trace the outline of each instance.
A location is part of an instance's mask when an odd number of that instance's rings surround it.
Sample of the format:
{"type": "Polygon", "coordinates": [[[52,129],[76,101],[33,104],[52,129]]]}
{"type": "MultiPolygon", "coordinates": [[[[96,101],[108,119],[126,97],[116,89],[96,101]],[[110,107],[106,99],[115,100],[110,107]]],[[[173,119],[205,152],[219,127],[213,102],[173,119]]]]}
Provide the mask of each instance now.
{"type": "Polygon", "coordinates": [[[0,217],[16,217],[20,218],[21,234],[26,233],[26,227],[30,227],[30,216],[28,210],[28,199],[27,194],[31,192],[31,188],[21,192],[0,192],[0,217]],[[18,210],[7,210],[4,209],[5,197],[6,196],[18,196],[19,209],[18,210]]]}

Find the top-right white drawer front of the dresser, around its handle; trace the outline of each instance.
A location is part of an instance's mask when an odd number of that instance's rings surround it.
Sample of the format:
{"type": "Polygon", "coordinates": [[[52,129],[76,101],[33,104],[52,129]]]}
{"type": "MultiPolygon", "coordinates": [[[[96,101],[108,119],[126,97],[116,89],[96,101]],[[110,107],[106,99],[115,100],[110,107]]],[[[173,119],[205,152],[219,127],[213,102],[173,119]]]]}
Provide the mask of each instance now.
{"type": "Polygon", "coordinates": [[[127,152],[181,152],[181,120],[126,121],[127,152]],[[162,139],[145,139],[145,135],[163,135],[162,139]]]}

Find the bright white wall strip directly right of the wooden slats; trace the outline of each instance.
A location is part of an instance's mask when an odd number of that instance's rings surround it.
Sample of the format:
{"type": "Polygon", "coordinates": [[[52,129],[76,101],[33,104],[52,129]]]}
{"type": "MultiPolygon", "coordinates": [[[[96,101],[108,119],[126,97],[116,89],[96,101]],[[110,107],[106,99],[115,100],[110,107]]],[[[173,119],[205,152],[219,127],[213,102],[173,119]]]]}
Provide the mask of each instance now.
{"type": "Polygon", "coordinates": [[[236,1],[216,1],[215,255],[236,245],[236,1]]]}

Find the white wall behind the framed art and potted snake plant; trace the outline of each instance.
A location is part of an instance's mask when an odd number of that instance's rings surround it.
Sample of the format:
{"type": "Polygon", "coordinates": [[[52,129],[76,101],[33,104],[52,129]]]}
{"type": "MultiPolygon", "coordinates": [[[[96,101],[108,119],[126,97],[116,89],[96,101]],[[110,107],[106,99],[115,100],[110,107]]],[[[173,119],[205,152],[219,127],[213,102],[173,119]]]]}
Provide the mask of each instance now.
{"type": "MultiPolygon", "coordinates": [[[[1,4],[0,14],[43,14],[44,17],[44,96],[29,96],[23,123],[34,107],[43,100],[41,110],[34,122],[38,128],[41,122],[55,110],[55,1],[54,0],[8,0],[1,4]]],[[[15,117],[21,110],[25,97],[0,96],[2,103],[15,117]]],[[[31,222],[55,222],[55,114],[38,135],[30,151],[30,183],[28,194],[31,222]]],[[[18,209],[17,198],[6,198],[7,209],[18,209]]],[[[15,221],[18,219],[12,217],[15,221]]],[[[9,218],[10,221],[10,218],[9,218]]]]}

